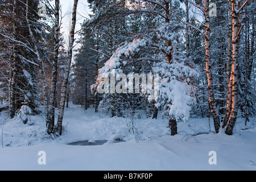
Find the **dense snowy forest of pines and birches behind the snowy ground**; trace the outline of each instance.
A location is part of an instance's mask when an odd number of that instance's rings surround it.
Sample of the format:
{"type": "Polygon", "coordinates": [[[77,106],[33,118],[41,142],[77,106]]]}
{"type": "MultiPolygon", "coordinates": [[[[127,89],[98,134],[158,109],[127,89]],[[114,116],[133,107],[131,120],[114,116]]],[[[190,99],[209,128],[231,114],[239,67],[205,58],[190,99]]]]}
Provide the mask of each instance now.
{"type": "Polygon", "coordinates": [[[212,117],[216,133],[232,135],[238,117],[246,125],[256,114],[255,0],[88,0],[77,31],[78,2],[68,48],[59,0],[0,2],[10,118],[44,113],[47,133],[61,135],[73,102],[110,117],[166,118],[171,135],[177,122],[212,117]]]}

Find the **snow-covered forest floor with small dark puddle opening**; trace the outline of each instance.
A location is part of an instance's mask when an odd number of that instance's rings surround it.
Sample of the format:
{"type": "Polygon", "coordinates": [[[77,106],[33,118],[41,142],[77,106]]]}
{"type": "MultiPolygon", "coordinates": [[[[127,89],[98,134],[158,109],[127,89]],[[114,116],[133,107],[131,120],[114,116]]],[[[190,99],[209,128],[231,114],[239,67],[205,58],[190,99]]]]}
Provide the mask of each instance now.
{"type": "MultiPolygon", "coordinates": [[[[256,118],[245,127],[238,118],[234,134],[209,133],[208,118],[178,123],[170,136],[167,119],[110,118],[93,109],[70,105],[65,109],[61,137],[46,135],[43,115],[32,116],[34,125],[10,120],[0,113],[0,170],[254,170],[256,171],[256,118]],[[130,129],[130,131],[129,131],[130,129]],[[3,138],[2,138],[3,134],[3,138]],[[113,143],[121,138],[125,142],[113,143]],[[2,148],[3,139],[3,148],[2,148]],[[109,140],[102,146],[71,146],[83,140],[109,140]],[[39,151],[46,165],[39,165],[39,151]],[[216,151],[216,165],[209,152],[216,151]]],[[[214,131],[213,121],[210,121],[214,131]]]]}

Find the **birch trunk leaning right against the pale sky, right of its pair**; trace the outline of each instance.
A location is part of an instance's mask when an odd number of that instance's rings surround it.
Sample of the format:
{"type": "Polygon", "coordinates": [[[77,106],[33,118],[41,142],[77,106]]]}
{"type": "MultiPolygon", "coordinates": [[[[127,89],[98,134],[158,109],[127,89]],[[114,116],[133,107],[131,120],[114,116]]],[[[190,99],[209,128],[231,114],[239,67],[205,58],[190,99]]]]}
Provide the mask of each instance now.
{"type": "Polygon", "coordinates": [[[57,121],[57,133],[59,133],[59,135],[61,135],[61,133],[62,133],[62,121],[63,121],[63,115],[64,115],[65,98],[67,96],[68,78],[69,78],[71,61],[72,61],[72,49],[73,49],[73,44],[75,42],[76,11],[77,11],[78,1],[79,0],[74,0],[71,32],[70,32],[70,36],[69,36],[69,46],[68,46],[68,61],[67,61],[67,65],[65,68],[65,76],[64,76],[62,90],[61,90],[59,117],[58,117],[58,121],[57,121]]]}

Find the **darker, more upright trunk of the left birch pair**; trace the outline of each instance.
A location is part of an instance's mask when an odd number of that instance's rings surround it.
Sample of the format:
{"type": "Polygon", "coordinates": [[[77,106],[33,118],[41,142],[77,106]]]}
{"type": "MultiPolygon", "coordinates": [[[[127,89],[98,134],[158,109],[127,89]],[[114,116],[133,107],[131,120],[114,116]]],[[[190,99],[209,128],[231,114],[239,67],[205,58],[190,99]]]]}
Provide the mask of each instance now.
{"type": "Polygon", "coordinates": [[[48,123],[48,134],[53,132],[54,122],[55,122],[55,98],[56,98],[56,84],[57,84],[57,63],[59,56],[59,34],[60,34],[60,24],[59,15],[60,11],[60,1],[55,0],[55,26],[54,26],[54,51],[53,51],[53,67],[52,67],[52,85],[50,92],[49,101],[49,123],[48,123]]]}

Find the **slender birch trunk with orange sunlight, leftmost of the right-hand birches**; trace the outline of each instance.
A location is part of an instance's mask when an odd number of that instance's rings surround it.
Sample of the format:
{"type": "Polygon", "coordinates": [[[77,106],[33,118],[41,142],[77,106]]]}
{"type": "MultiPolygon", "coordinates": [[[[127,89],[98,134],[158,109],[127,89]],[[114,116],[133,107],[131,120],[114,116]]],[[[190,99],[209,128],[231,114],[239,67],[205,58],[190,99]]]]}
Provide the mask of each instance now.
{"type": "Polygon", "coordinates": [[[209,16],[209,0],[204,1],[205,5],[205,63],[208,79],[208,94],[210,111],[214,121],[214,127],[216,133],[220,130],[220,116],[215,103],[214,91],[213,91],[213,77],[212,77],[212,65],[210,63],[210,16],[209,16]]]}

